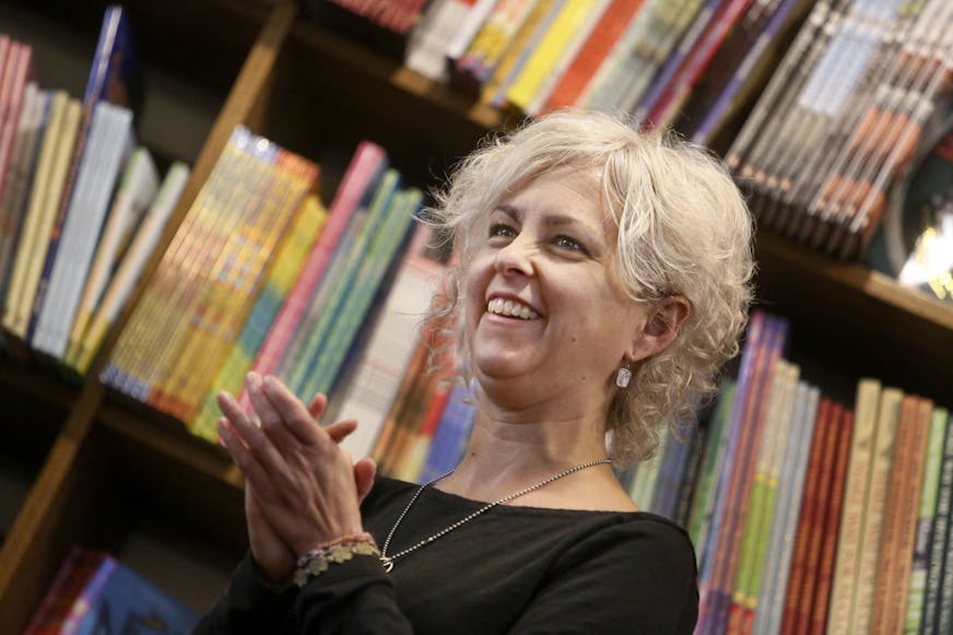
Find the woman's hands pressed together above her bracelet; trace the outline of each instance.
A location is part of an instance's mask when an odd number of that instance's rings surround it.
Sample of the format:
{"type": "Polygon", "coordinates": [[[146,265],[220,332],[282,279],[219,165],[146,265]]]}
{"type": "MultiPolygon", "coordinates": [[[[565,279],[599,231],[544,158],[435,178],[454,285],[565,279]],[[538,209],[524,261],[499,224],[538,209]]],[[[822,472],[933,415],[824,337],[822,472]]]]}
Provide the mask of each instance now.
{"type": "Polygon", "coordinates": [[[352,461],[339,444],[353,420],[320,425],[328,400],[305,404],[277,378],[249,373],[246,391],[260,425],[233,396],[220,392],[219,436],[245,477],[245,517],[258,573],[273,586],[294,574],[308,550],[362,531],[360,504],[375,466],[352,461]]]}

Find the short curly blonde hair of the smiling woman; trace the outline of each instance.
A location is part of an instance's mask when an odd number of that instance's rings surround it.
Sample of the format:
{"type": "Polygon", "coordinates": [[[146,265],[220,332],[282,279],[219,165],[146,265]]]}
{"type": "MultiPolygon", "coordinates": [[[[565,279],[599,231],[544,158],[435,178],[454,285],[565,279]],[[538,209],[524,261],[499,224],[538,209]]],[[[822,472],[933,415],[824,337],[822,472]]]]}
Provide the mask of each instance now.
{"type": "MultiPolygon", "coordinates": [[[[705,149],[605,114],[553,113],[487,138],[434,192],[428,217],[447,232],[459,258],[432,309],[435,318],[459,315],[462,280],[490,211],[564,167],[598,175],[602,203],[619,227],[616,270],[632,301],[682,295],[691,305],[674,341],[642,361],[610,403],[610,456],[624,465],[649,458],[666,425],[690,420],[715,392],[718,369],[738,354],[752,297],[753,223],[727,169],[705,149]]],[[[458,367],[466,371],[464,338],[456,341],[458,367]]]]}

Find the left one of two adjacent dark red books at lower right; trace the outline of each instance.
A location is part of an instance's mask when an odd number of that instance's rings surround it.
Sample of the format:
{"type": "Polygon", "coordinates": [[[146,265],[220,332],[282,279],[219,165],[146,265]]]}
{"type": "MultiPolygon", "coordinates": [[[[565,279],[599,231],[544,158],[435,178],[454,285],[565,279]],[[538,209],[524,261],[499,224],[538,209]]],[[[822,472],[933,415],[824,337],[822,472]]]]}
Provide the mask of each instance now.
{"type": "Polygon", "coordinates": [[[822,397],[817,405],[817,423],[811,443],[811,456],[808,459],[808,474],[804,482],[804,493],[801,497],[801,511],[798,515],[798,530],[795,533],[795,552],[791,555],[788,590],[785,595],[781,635],[793,635],[797,632],[801,591],[808,575],[807,569],[813,566],[808,556],[811,549],[811,530],[821,513],[817,504],[822,489],[821,472],[823,471],[825,450],[831,445],[830,438],[835,436],[836,432],[831,420],[832,408],[833,402],[826,397],[822,397]]]}

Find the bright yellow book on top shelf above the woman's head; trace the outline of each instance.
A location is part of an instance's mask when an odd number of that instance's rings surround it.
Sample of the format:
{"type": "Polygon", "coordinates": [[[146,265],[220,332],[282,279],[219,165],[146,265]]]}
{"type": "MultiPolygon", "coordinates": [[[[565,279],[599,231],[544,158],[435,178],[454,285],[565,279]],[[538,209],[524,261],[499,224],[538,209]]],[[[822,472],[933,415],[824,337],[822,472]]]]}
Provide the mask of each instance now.
{"type": "Polygon", "coordinates": [[[573,0],[563,4],[549,31],[506,92],[506,101],[510,106],[523,113],[530,111],[530,105],[537,101],[543,85],[554,74],[560,60],[572,52],[574,40],[586,33],[584,26],[597,13],[599,4],[599,0],[573,0]]]}

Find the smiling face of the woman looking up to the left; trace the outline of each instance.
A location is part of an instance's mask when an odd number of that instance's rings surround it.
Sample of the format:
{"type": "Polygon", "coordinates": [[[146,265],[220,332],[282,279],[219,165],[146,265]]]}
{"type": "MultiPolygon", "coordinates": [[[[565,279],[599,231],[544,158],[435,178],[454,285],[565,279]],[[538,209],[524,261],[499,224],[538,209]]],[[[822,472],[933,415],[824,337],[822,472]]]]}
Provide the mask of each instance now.
{"type": "Polygon", "coordinates": [[[595,176],[543,175],[491,211],[486,227],[466,278],[475,378],[499,404],[604,414],[616,369],[644,356],[647,309],[616,281],[615,224],[595,176]]]}

